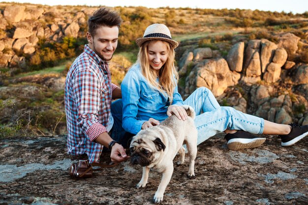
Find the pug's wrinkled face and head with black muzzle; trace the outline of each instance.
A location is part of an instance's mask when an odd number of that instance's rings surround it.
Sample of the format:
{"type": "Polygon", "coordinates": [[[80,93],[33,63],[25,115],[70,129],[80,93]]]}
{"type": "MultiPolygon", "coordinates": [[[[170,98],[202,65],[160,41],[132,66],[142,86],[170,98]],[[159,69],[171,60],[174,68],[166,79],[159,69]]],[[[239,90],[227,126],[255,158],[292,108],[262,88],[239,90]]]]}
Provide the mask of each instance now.
{"type": "Polygon", "coordinates": [[[165,145],[157,137],[157,133],[154,135],[154,130],[142,130],[130,143],[130,161],[142,167],[149,166],[160,158],[164,149],[165,145]]]}

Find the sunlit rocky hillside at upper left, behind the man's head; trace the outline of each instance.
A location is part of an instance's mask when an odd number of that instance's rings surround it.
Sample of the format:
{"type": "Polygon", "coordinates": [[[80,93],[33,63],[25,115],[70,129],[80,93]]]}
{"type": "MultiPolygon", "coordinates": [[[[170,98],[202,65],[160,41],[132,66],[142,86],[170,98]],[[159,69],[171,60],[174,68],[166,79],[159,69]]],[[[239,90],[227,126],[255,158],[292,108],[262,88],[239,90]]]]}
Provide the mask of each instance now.
{"type": "Polygon", "coordinates": [[[56,7],[35,4],[0,3],[0,67],[26,67],[39,40],[77,38],[81,27],[96,8],[56,7]]]}

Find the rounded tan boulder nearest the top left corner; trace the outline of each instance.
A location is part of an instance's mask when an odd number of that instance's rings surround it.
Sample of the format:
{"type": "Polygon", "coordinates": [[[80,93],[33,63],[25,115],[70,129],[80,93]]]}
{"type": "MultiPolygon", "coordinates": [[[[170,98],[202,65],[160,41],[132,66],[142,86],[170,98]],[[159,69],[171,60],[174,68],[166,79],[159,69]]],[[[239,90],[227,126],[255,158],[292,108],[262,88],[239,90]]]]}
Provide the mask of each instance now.
{"type": "Polygon", "coordinates": [[[25,9],[26,6],[20,5],[6,6],[3,16],[10,23],[20,22],[25,20],[25,9]]]}

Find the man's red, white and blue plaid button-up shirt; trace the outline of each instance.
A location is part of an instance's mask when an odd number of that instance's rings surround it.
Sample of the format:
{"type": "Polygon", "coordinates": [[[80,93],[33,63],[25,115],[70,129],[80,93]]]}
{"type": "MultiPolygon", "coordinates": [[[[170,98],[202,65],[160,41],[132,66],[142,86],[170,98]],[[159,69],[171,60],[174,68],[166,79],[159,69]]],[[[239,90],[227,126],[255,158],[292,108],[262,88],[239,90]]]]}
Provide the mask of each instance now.
{"type": "Polygon", "coordinates": [[[71,65],[65,81],[67,153],[86,153],[90,163],[99,160],[103,146],[94,140],[104,132],[111,115],[112,91],[108,63],[85,45],[71,65]]]}

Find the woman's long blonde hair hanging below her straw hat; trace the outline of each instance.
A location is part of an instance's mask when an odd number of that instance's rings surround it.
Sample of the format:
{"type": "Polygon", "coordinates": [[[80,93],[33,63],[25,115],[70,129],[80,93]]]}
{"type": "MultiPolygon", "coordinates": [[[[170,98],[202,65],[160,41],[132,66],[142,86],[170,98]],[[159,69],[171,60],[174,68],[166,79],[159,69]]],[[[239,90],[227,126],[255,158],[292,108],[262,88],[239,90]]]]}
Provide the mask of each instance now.
{"type": "MultiPolygon", "coordinates": [[[[151,40],[158,41],[158,40],[151,40]]],[[[156,82],[156,71],[151,68],[148,57],[148,46],[151,41],[144,42],[139,49],[137,63],[140,63],[143,76],[149,83],[161,93],[167,93],[170,104],[173,100],[173,92],[179,80],[179,74],[174,65],[175,52],[172,45],[166,41],[161,41],[166,45],[168,58],[165,64],[159,69],[158,83],[156,82]]]]}

